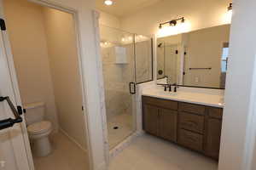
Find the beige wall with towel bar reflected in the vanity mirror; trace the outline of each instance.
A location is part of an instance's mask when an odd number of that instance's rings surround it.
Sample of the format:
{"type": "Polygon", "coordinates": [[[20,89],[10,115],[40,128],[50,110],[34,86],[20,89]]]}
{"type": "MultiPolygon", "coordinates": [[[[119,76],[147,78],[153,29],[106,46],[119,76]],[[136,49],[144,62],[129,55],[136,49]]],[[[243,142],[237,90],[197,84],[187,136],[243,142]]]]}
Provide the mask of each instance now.
{"type": "Polygon", "coordinates": [[[187,55],[183,83],[188,86],[220,88],[222,48],[224,42],[229,42],[230,25],[192,31],[184,37],[187,39],[187,55]],[[212,69],[189,71],[190,67],[212,69]]]}

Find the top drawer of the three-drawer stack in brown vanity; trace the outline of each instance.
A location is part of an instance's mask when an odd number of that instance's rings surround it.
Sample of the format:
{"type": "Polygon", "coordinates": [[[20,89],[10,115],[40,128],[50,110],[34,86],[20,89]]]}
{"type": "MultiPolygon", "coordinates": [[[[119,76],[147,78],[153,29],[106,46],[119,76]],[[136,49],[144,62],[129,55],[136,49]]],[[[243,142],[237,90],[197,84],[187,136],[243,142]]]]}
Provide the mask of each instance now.
{"type": "Polygon", "coordinates": [[[179,111],[187,111],[198,115],[204,115],[206,107],[204,105],[194,105],[188,103],[179,103],[179,111]]]}

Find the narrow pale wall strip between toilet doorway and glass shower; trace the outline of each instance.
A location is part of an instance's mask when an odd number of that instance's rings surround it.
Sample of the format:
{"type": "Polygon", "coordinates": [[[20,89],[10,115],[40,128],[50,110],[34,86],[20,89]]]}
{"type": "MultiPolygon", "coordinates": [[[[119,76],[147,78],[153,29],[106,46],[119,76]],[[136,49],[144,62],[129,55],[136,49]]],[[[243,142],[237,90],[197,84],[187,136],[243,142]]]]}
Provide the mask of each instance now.
{"type": "MultiPolygon", "coordinates": [[[[9,0],[8,0],[9,1],[9,0]]],[[[37,2],[45,2],[36,0],[37,2]]],[[[94,21],[96,20],[93,13],[95,8],[94,0],[50,0],[51,3],[61,4],[63,7],[73,8],[77,12],[79,21],[79,39],[81,43],[81,63],[84,93],[84,109],[88,118],[88,131],[90,136],[90,156],[88,156],[91,165],[95,169],[104,169],[107,166],[108,150],[104,146],[105,124],[102,124],[102,71],[98,68],[99,48],[96,46],[97,31],[95,30],[94,21]]],[[[22,25],[20,25],[22,26],[22,25]]],[[[87,161],[87,160],[86,160],[87,161]]],[[[107,167],[106,167],[107,168],[107,167]]],[[[89,169],[89,167],[87,167],[89,169]]]]}

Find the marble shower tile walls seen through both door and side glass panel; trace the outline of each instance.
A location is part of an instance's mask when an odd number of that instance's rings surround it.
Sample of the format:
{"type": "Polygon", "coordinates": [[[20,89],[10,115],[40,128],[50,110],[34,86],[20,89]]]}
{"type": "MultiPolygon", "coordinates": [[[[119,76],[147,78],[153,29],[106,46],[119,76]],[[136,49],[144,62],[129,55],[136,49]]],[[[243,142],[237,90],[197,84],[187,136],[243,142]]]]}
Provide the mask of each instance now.
{"type": "Polygon", "coordinates": [[[102,70],[108,119],[119,114],[132,114],[132,97],[129,91],[129,83],[135,82],[135,71],[136,82],[145,82],[152,78],[151,41],[137,42],[135,47],[136,58],[134,57],[134,45],[131,43],[102,47],[102,70]],[[115,63],[114,47],[118,46],[126,50],[126,64],[115,63]],[[136,62],[134,59],[136,59],[136,62]]]}

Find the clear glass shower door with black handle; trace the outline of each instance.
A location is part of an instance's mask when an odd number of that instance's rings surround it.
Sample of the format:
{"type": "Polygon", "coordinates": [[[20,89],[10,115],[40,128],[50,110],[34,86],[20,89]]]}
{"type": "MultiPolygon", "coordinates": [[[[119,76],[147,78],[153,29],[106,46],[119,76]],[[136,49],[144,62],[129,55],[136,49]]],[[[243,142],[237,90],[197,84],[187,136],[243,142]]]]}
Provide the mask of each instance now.
{"type": "Polygon", "coordinates": [[[134,34],[100,26],[110,149],[136,130],[134,34]]]}

